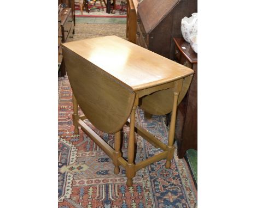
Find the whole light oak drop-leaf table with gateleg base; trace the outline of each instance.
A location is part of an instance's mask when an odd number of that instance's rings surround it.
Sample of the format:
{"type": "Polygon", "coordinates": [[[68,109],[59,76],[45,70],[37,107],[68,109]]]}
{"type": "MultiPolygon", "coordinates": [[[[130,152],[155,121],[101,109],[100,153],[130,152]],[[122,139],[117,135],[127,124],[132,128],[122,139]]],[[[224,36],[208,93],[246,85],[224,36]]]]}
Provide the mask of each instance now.
{"type": "Polygon", "coordinates": [[[166,168],[170,168],[177,105],[187,93],[194,71],[114,35],[67,42],[62,49],[73,90],[74,132],[80,126],[112,158],[115,174],[119,166],[125,168],[127,186],[132,186],[135,172],[150,163],[166,159],[166,168]],[[135,124],[137,106],[149,114],[172,112],[167,145],[135,124]],[[114,148],[84,123],[86,118],[98,130],[115,134],[114,148]],[[130,126],[127,161],[120,151],[125,124],[130,126]],[[135,164],[135,132],[163,151],[135,164]]]}

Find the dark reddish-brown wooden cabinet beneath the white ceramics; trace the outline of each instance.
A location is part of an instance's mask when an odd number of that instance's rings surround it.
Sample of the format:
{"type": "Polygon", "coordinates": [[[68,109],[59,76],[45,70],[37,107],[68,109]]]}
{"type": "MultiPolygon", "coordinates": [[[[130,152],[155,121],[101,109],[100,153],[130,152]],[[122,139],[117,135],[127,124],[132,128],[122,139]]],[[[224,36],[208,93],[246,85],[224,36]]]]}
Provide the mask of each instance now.
{"type": "Polygon", "coordinates": [[[195,71],[188,93],[177,111],[175,138],[178,157],[182,158],[188,149],[197,150],[197,53],[183,38],[173,38],[173,42],[177,62],[195,71]]]}

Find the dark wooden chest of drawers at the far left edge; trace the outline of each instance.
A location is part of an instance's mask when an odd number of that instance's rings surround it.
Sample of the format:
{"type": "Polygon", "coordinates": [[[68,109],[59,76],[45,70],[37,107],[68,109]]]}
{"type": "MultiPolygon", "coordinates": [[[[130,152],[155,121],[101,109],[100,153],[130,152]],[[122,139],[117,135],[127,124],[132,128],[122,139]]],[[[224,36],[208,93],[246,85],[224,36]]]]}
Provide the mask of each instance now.
{"type": "Polygon", "coordinates": [[[66,75],[65,63],[63,62],[61,43],[71,41],[74,34],[74,18],[72,8],[61,8],[58,11],[58,64],[61,76],[66,75]]]}

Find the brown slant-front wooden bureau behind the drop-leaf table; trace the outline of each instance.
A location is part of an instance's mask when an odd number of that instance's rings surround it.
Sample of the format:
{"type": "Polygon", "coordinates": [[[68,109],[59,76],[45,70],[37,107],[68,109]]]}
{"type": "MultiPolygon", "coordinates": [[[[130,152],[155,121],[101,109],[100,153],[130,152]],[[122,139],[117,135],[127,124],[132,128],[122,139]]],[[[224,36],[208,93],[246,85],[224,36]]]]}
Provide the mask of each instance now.
{"type": "Polygon", "coordinates": [[[137,10],[136,44],[173,59],[171,40],[182,37],[181,20],[197,12],[197,0],[143,0],[137,10]]]}

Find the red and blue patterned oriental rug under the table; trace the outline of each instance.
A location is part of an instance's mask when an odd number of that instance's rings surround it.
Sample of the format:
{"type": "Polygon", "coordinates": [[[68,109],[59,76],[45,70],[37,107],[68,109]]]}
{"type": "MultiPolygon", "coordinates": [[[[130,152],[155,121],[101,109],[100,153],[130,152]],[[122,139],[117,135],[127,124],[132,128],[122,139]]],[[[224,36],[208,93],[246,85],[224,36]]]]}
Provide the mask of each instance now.
{"type": "MultiPolygon", "coordinates": [[[[197,191],[184,159],[178,159],[177,149],[171,168],[165,160],[150,164],[136,172],[133,186],[126,186],[125,169],[114,174],[112,160],[79,129],[74,134],[72,125],[72,89],[68,78],[59,78],[59,208],[182,208],[197,207],[197,191]]],[[[82,114],[81,111],[79,111],[82,114]]],[[[136,122],[156,138],[167,143],[167,129],[162,116],[144,117],[136,110],[136,122]]],[[[98,131],[85,120],[102,139],[114,145],[114,135],[98,131]]],[[[127,156],[129,127],[123,128],[124,158],[127,156]]],[[[158,154],[142,137],[137,137],[136,162],[158,154]]]]}

